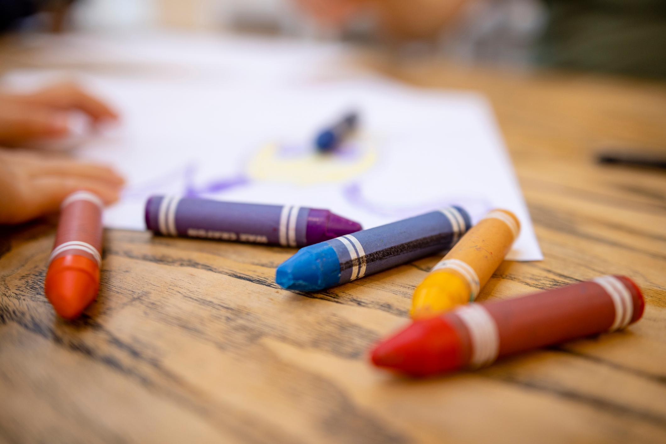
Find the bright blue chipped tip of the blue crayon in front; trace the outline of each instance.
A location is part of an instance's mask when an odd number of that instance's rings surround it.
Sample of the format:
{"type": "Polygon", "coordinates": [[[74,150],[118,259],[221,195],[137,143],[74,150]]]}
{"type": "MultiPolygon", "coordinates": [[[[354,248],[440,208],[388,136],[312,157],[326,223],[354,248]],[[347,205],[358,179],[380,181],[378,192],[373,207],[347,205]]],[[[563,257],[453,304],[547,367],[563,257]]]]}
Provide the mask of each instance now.
{"type": "Polygon", "coordinates": [[[334,248],[320,242],[301,248],[275,272],[275,282],[287,290],[314,292],[340,282],[340,261],[334,248]]]}

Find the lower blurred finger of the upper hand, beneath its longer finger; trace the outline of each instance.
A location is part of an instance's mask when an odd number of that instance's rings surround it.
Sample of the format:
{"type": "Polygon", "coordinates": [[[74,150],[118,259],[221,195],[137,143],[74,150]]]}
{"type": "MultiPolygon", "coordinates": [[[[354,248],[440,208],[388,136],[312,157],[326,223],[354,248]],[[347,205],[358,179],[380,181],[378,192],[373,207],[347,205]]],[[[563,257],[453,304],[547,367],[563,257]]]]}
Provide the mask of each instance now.
{"type": "Polygon", "coordinates": [[[67,115],[49,108],[23,103],[0,104],[0,142],[19,145],[41,138],[65,136],[69,131],[67,115]]]}

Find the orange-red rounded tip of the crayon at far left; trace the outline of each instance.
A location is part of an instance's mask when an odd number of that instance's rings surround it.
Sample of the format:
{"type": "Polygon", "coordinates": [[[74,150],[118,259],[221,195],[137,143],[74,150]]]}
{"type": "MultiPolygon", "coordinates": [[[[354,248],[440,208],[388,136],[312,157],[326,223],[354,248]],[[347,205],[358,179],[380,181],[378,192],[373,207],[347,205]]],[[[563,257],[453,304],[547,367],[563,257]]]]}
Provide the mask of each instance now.
{"type": "Polygon", "coordinates": [[[97,262],[71,254],[51,262],[44,282],[44,292],[55,312],[67,320],[77,318],[97,297],[99,267],[97,262]]]}

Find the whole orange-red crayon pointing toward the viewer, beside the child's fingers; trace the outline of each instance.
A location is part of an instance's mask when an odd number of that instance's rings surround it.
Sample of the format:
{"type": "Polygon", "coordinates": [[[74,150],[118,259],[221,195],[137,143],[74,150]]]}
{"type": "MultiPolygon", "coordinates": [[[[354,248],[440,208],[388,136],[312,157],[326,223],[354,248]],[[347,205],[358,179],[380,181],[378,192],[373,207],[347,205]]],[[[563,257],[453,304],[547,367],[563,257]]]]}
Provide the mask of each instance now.
{"type": "Polygon", "coordinates": [[[102,265],[103,202],[88,191],[63,200],[44,292],[65,319],[74,319],[97,297],[102,265]]]}

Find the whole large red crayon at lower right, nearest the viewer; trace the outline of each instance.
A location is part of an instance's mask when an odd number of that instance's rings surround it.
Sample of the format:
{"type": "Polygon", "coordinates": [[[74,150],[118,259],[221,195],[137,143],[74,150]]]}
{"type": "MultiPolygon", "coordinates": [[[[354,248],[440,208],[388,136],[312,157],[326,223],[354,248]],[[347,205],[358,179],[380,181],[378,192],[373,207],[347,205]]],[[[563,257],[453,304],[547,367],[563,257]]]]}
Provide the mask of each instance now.
{"type": "Polygon", "coordinates": [[[631,279],[602,276],[416,321],[380,343],[372,362],[414,376],[483,367],[513,353],[625,328],[643,308],[631,279]]]}

